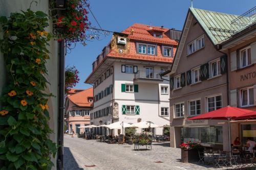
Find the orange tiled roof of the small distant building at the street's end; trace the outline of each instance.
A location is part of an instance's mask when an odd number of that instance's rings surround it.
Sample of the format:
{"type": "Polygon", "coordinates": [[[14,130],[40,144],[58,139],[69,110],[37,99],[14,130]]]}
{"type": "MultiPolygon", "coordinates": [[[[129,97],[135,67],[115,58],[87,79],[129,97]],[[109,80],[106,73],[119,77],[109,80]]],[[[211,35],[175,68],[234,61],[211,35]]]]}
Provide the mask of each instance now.
{"type": "Polygon", "coordinates": [[[88,98],[93,98],[93,88],[89,88],[73,95],[68,96],[69,100],[75,105],[80,107],[92,107],[92,103],[89,103],[88,98]]]}

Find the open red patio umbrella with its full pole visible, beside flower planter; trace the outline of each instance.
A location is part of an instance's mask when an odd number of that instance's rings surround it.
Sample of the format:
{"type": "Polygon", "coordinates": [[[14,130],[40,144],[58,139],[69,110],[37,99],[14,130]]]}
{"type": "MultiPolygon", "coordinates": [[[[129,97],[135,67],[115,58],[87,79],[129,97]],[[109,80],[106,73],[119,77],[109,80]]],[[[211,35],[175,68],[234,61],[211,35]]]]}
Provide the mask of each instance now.
{"type": "Polygon", "coordinates": [[[228,138],[229,138],[229,151],[230,151],[230,120],[232,118],[236,118],[245,113],[250,113],[251,110],[241,109],[237,107],[226,106],[218,110],[210,111],[205,114],[201,114],[195,117],[188,118],[188,120],[198,120],[198,119],[220,119],[220,120],[228,120],[228,138]]]}

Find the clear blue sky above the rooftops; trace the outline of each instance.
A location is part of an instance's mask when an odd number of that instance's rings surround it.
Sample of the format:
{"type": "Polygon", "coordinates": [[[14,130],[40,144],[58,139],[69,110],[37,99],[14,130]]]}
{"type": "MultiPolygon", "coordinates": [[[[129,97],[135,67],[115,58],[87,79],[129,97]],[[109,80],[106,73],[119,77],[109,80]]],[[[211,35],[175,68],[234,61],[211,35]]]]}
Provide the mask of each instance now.
{"type": "MultiPolygon", "coordinates": [[[[121,32],[133,25],[143,23],[152,26],[164,26],[182,30],[190,0],[91,0],[91,10],[102,29],[121,32]]],[[[216,12],[241,15],[256,5],[255,0],[194,0],[193,7],[216,12]]],[[[93,26],[96,21],[89,14],[93,26]]],[[[83,82],[92,72],[92,63],[102,48],[109,43],[111,36],[103,40],[87,41],[83,46],[79,43],[66,56],[66,66],[75,65],[79,71],[80,82],[75,88],[91,87],[83,82]]]]}

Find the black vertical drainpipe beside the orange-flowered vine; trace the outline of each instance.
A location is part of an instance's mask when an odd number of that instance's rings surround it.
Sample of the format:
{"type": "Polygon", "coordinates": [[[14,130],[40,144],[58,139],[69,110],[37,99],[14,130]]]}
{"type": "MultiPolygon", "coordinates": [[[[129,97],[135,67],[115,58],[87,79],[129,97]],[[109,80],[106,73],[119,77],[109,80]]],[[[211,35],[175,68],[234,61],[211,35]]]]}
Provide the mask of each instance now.
{"type": "Polygon", "coordinates": [[[57,143],[60,146],[57,153],[57,169],[63,169],[63,121],[64,121],[64,87],[65,87],[65,54],[64,54],[64,41],[58,42],[58,58],[59,58],[59,71],[58,71],[58,96],[59,96],[59,109],[58,109],[58,137],[57,143]]]}

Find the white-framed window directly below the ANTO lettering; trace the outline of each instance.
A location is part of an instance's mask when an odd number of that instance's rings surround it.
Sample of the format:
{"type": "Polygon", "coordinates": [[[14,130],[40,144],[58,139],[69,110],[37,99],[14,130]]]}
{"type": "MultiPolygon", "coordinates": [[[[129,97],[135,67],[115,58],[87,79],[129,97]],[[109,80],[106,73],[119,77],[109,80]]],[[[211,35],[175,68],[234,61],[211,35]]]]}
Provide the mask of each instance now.
{"type": "Polygon", "coordinates": [[[240,90],[240,105],[241,106],[254,105],[253,86],[240,90]]]}

